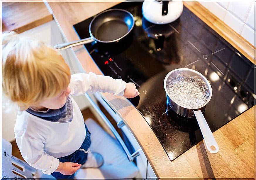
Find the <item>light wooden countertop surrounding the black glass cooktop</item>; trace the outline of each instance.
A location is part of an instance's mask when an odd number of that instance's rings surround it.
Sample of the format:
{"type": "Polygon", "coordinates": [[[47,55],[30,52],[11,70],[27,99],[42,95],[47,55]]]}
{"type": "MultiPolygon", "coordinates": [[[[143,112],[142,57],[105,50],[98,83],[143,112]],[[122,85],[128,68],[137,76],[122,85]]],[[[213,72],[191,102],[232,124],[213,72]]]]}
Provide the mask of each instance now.
{"type": "MultiPolygon", "coordinates": [[[[49,2],[68,41],[78,40],[72,25],[85,20],[118,2],[60,3],[49,2]]],[[[218,32],[224,39],[254,62],[255,48],[228,28],[216,16],[197,2],[184,5],[218,32]]],[[[87,72],[102,74],[83,46],[73,48],[87,72]]],[[[123,118],[147,156],[157,177],[187,178],[254,178],[254,111],[255,106],[213,133],[220,151],[211,154],[203,141],[193,146],[174,161],[170,161],[148,123],[124,97],[102,93],[102,97],[123,118]]]]}

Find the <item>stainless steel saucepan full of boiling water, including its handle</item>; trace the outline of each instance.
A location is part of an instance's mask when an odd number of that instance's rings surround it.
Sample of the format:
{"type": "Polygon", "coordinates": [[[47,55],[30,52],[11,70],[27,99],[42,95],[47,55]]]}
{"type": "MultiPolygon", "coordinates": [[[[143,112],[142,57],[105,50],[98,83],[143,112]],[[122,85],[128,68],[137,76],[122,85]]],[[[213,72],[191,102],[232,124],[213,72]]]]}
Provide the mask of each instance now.
{"type": "Polygon", "coordinates": [[[174,69],[166,75],[164,87],[172,109],[181,116],[196,117],[208,151],[218,153],[218,144],[202,113],[212,96],[207,78],[193,69],[174,69]]]}

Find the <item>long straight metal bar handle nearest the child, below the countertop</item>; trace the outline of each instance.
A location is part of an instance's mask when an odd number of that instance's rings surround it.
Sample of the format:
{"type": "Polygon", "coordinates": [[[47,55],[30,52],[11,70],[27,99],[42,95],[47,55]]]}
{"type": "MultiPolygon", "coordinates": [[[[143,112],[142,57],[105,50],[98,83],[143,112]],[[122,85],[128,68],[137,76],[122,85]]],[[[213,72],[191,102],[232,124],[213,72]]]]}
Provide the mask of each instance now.
{"type": "Polygon", "coordinates": [[[125,143],[123,142],[123,139],[120,137],[120,135],[116,131],[116,129],[113,127],[113,125],[110,123],[110,121],[105,116],[105,114],[101,111],[101,109],[94,103],[94,101],[91,99],[91,97],[88,94],[84,94],[84,95],[87,97],[87,99],[89,100],[90,104],[93,106],[93,108],[96,110],[96,112],[101,116],[102,120],[104,120],[104,122],[106,123],[108,128],[114,134],[114,136],[116,137],[117,141],[119,142],[119,144],[122,146],[123,150],[125,151],[128,159],[129,159],[129,162],[132,162],[133,161],[133,157],[130,154],[130,152],[129,152],[128,148],[126,147],[125,143]]]}

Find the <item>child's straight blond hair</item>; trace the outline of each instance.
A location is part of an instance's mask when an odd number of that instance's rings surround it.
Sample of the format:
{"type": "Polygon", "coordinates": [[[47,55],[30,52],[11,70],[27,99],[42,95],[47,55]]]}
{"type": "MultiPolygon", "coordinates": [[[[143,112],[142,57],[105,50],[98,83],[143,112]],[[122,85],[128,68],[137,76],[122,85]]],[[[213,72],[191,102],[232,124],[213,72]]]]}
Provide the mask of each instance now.
{"type": "Polygon", "coordinates": [[[2,92],[21,110],[67,88],[70,69],[62,55],[42,42],[2,34],[2,92]]]}

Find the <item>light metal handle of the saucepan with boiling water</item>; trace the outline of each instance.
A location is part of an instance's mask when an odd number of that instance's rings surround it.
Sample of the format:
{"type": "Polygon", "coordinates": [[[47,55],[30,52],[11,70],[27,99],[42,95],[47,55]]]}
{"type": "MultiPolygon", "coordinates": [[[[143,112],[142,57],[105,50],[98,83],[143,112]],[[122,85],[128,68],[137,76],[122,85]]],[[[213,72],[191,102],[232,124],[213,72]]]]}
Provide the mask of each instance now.
{"type": "Polygon", "coordinates": [[[215,138],[213,137],[211,129],[208,126],[202,111],[201,110],[194,111],[194,114],[196,116],[196,120],[197,120],[199,127],[201,129],[201,132],[203,134],[204,142],[205,142],[205,145],[206,145],[208,151],[210,151],[210,153],[218,153],[219,146],[218,146],[215,138]]]}

